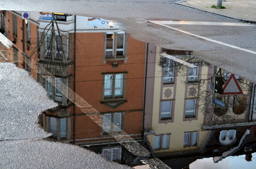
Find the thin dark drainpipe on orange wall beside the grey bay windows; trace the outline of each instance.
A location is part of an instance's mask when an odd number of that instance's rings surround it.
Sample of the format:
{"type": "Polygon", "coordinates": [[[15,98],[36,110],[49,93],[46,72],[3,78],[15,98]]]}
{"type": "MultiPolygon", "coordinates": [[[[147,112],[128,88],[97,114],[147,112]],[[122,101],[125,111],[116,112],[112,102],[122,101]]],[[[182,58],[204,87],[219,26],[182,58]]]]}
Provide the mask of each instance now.
{"type": "Polygon", "coordinates": [[[76,15],[74,16],[74,106],[73,106],[73,113],[74,113],[74,120],[73,120],[73,142],[76,143],[76,15]]]}

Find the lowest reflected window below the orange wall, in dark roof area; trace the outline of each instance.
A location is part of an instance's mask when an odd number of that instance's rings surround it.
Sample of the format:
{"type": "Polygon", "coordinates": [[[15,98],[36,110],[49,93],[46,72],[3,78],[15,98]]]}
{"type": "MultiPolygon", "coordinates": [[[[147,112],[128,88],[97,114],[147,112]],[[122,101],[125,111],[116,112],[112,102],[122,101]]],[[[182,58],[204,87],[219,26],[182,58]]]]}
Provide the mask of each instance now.
{"type": "Polygon", "coordinates": [[[120,161],[122,157],[122,147],[103,148],[101,156],[107,161],[120,161]]]}

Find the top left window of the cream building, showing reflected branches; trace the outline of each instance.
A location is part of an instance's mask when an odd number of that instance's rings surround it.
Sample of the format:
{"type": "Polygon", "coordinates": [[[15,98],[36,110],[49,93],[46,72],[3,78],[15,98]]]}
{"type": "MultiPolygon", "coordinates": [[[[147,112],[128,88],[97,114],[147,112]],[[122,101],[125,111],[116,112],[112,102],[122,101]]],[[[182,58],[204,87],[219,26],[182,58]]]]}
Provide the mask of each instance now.
{"type": "Polygon", "coordinates": [[[174,63],[170,58],[163,59],[163,83],[174,82],[174,63]]]}

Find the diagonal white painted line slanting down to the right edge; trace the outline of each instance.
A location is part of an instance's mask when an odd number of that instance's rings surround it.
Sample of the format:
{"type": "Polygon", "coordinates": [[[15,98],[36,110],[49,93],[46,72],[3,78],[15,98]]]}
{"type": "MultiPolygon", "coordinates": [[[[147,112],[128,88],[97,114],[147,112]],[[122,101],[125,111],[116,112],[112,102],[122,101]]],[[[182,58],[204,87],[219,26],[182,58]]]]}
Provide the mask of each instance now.
{"type": "Polygon", "coordinates": [[[182,33],[187,34],[187,35],[190,35],[190,36],[192,36],[192,37],[197,37],[197,38],[200,38],[200,39],[204,39],[204,40],[206,40],[206,41],[209,41],[209,42],[214,42],[214,43],[216,43],[216,44],[221,44],[221,45],[223,45],[223,46],[228,46],[228,47],[231,47],[231,48],[233,48],[233,49],[238,49],[238,50],[240,50],[240,51],[246,51],[246,52],[248,52],[248,53],[250,53],[250,54],[256,54],[256,51],[251,51],[251,50],[248,50],[248,49],[244,49],[244,48],[241,48],[241,47],[238,47],[238,46],[234,46],[234,45],[232,45],[232,44],[226,44],[226,43],[224,43],[224,42],[216,41],[216,40],[214,40],[214,39],[209,39],[208,37],[202,37],[202,36],[200,36],[200,35],[195,35],[195,34],[192,34],[192,33],[190,33],[190,32],[187,32],[187,31],[185,31],[185,30],[180,30],[180,29],[175,28],[175,27],[170,27],[170,26],[168,26],[168,25],[164,25],[164,24],[162,24],[161,22],[158,22],[158,21],[152,21],[152,20],[148,20],[148,21],[149,21],[150,23],[155,23],[156,25],[161,25],[161,26],[163,26],[163,27],[168,27],[168,28],[170,28],[171,30],[176,30],[176,31],[178,31],[178,32],[182,32],[182,33]]]}

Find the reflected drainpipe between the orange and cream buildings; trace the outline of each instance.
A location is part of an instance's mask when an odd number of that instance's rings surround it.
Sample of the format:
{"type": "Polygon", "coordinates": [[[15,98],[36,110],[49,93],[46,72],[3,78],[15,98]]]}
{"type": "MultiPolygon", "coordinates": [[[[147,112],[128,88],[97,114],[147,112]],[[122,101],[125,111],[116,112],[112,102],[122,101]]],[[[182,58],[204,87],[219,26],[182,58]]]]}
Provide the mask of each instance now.
{"type": "Polygon", "coordinates": [[[149,58],[149,43],[146,44],[146,65],[145,65],[145,80],[144,80],[144,101],[143,101],[143,117],[142,117],[142,134],[141,137],[143,142],[146,140],[144,139],[144,123],[145,123],[145,108],[146,108],[146,80],[147,80],[147,73],[148,73],[148,58],[149,58]]]}

